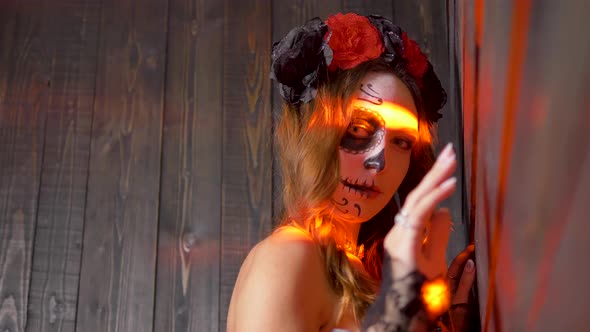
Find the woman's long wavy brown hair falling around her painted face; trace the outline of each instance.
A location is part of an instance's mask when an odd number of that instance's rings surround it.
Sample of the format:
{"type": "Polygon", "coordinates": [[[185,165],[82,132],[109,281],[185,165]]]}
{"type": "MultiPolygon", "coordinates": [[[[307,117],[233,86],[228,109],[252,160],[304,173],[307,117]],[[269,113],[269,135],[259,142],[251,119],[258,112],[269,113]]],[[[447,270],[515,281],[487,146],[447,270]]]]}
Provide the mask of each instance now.
{"type": "Polygon", "coordinates": [[[365,271],[353,269],[346,250],[336,240],[338,221],[332,218],[330,197],[339,181],[338,150],[352,118],[349,105],[369,72],[398,77],[410,90],[418,110],[419,139],[412,149],[408,172],[397,190],[403,204],[434,163],[435,133],[424,112],[418,84],[402,64],[390,65],[375,59],[333,74],[318,88],[312,102],[301,107],[285,105],[276,130],[285,209],[279,228],[297,226],[319,244],[330,285],[341,297],[339,316],[348,308],[357,321],[362,319],[378,291],[383,239],[393,227],[398,210],[394,196],[377,215],[361,225],[358,245],[365,248],[362,258],[365,271]]]}

